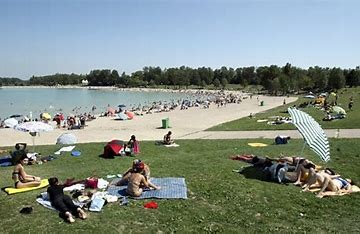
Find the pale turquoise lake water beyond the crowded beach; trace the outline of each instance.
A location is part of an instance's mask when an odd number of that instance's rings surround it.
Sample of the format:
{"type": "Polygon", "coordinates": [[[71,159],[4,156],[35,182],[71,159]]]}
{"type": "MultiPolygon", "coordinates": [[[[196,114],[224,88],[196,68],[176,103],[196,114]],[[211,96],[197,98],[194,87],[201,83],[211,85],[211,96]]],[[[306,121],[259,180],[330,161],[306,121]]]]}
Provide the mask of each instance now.
{"type": "Polygon", "coordinates": [[[62,112],[77,114],[106,111],[108,104],[117,108],[119,104],[127,107],[151,104],[154,101],[177,101],[196,98],[195,95],[180,92],[124,91],[86,88],[0,88],[0,118],[10,115],[29,115],[38,118],[40,113],[54,115],[62,112]]]}

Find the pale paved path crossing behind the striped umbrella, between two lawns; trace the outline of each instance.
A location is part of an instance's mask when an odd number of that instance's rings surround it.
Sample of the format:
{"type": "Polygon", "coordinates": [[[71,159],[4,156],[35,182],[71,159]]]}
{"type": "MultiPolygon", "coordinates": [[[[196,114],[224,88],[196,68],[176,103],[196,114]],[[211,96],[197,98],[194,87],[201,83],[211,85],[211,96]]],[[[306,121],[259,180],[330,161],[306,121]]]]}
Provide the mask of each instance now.
{"type": "MultiPolygon", "coordinates": [[[[360,129],[325,129],[329,138],[360,138],[360,129]]],[[[297,130],[269,130],[269,131],[198,131],[177,139],[254,139],[270,138],[277,135],[286,135],[291,138],[302,138],[297,130]]]]}

